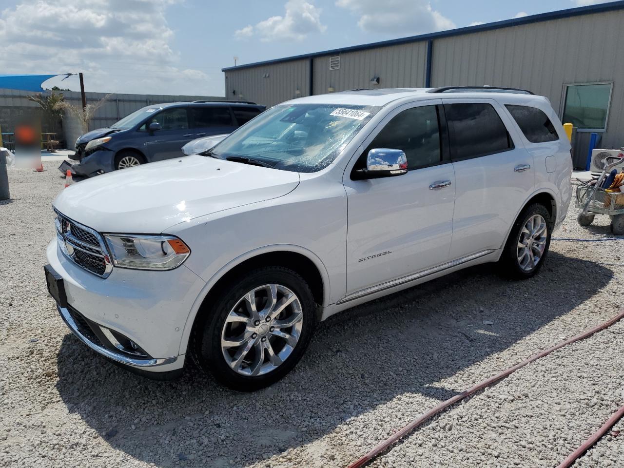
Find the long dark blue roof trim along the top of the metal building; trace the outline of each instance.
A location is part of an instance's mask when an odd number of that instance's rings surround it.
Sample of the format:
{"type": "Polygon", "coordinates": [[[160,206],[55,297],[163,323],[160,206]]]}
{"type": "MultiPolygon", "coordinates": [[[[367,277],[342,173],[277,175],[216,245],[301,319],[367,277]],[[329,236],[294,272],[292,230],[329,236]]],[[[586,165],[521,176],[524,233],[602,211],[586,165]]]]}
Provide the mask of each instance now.
{"type": "Polygon", "coordinates": [[[365,51],[367,49],[376,49],[377,47],[394,46],[395,44],[407,44],[409,42],[430,41],[440,37],[459,36],[460,34],[472,34],[473,32],[490,31],[492,29],[501,29],[503,27],[520,26],[522,24],[530,24],[534,22],[550,21],[553,19],[569,18],[580,16],[583,14],[601,13],[605,11],[613,11],[624,9],[624,0],[615,2],[600,3],[596,5],[582,6],[578,8],[570,8],[559,11],[549,11],[547,13],[534,14],[520,18],[506,19],[505,21],[495,21],[477,26],[459,27],[457,29],[449,29],[449,31],[432,32],[430,34],[420,34],[419,36],[401,37],[399,39],[391,39],[389,41],[372,42],[371,44],[362,44],[361,46],[342,47],[341,49],[331,49],[329,51],[313,52],[311,54],[302,54],[300,56],[285,57],[283,59],[267,60],[263,62],[255,62],[252,64],[238,65],[235,67],[226,67],[221,69],[222,72],[241,70],[245,68],[257,67],[260,65],[270,65],[280,62],[291,62],[301,59],[311,59],[313,57],[321,57],[327,55],[337,55],[341,52],[365,51]]]}

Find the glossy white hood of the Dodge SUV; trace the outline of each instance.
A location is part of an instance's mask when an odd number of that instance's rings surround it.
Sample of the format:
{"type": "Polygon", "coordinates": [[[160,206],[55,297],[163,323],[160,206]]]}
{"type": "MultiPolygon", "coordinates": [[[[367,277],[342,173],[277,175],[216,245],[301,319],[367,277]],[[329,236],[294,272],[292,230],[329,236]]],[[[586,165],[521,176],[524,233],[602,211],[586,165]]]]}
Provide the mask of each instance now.
{"type": "Polygon", "coordinates": [[[99,232],[158,234],[193,218],[281,197],[299,181],[297,172],[194,155],[77,182],[54,207],[99,232]]]}

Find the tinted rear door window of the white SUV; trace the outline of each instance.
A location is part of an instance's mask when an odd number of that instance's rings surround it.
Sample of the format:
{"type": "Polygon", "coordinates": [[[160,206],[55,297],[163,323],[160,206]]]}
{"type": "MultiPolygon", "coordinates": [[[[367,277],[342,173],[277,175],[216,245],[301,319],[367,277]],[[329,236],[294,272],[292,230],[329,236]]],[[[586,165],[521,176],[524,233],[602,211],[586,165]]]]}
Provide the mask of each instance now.
{"type": "Polygon", "coordinates": [[[514,147],[505,124],[491,104],[444,104],[444,112],[449,125],[451,158],[475,158],[514,147]]]}

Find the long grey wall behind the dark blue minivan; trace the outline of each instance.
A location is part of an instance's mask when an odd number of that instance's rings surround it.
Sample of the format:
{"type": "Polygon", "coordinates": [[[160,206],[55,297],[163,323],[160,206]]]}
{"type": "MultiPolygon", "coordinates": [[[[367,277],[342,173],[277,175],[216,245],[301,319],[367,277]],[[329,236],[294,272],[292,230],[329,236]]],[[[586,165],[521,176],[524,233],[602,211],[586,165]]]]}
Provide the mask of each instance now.
{"type": "MultiPolygon", "coordinates": [[[[82,98],[77,91],[55,91],[65,96],[65,100],[72,105],[82,107],[82,98]]],[[[56,132],[60,139],[66,140],[66,146],[73,147],[76,142],[76,133],[80,132],[79,125],[73,120],[75,117],[67,115],[67,129],[61,119],[51,119],[43,115],[41,107],[36,102],[28,100],[29,95],[37,93],[16,89],[0,89],[0,125],[2,132],[12,132],[16,122],[22,119],[42,119],[42,132],[56,132]]],[[[105,97],[105,93],[87,92],[87,104],[95,104],[105,97]]],[[[94,119],[89,122],[89,130],[107,127],[117,120],[150,104],[162,102],[190,101],[200,99],[223,100],[223,96],[184,96],[161,94],[111,94],[109,99],[95,112],[94,119]]],[[[78,135],[79,136],[79,135],[78,135]]]]}

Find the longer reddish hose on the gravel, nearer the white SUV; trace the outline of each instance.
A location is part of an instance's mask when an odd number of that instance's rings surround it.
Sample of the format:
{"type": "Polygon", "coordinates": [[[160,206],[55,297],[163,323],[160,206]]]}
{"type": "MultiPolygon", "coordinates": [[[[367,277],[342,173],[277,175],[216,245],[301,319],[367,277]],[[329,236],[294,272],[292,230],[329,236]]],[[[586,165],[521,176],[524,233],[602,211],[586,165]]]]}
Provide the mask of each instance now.
{"type": "Polygon", "coordinates": [[[435,416],[436,414],[443,411],[447,407],[453,404],[456,404],[457,402],[462,401],[467,396],[470,396],[473,393],[478,392],[479,390],[482,390],[485,387],[498,382],[500,379],[503,379],[509,376],[509,374],[514,373],[518,369],[524,368],[524,366],[526,366],[527,364],[530,364],[533,361],[537,361],[537,359],[544,358],[544,356],[547,356],[547,354],[550,354],[553,351],[557,351],[557,349],[563,348],[563,346],[567,346],[568,344],[574,343],[575,341],[580,341],[581,339],[589,338],[594,333],[597,333],[598,331],[601,331],[607,328],[608,326],[611,326],[612,324],[616,323],[618,320],[622,319],[623,317],[624,317],[624,311],[617,314],[615,317],[607,320],[606,322],[583,332],[582,334],[579,334],[573,338],[567,339],[566,341],[563,341],[562,343],[555,344],[555,346],[552,346],[552,348],[545,349],[541,353],[538,353],[538,354],[535,354],[535,356],[532,356],[532,358],[525,359],[525,361],[522,361],[521,363],[516,364],[515,366],[512,366],[505,371],[502,371],[500,374],[497,374],[494,377],[490,377],[489,379],[476,384],[474,387],[468,389],[467,391],[461,392],[459,395],[456,395],[452,398],[447,399],[447,401],[440,403],[433,409],[430,409],[426,413],[422,414],[422,416],[417,417],[417,419],[414,419],[414,421],[407,424],[407,426],[402,427],[402,429],[392,434],[392,436],[388,437],[388,439],[381,442],[381,444],[379,444],[378,446],[374,447],[374,449],[368,452],[366,455],[364,455],[357,461],[350,464],[348,468],[360,468],[364,466],[368,462],[372,461],[374,458],[378,457],[384,451],[386,451],[388,447],[390,447],[392,444],[397,442],[399,439],[402,439],[402,437],[409,434],[409,432],[416,429],[416,427],[420,426],[423,422],[427,421],[427,419],[430,419],[431,417],[435,416]]]}

